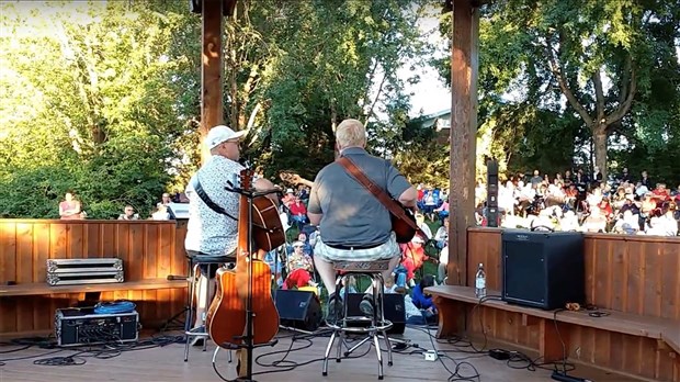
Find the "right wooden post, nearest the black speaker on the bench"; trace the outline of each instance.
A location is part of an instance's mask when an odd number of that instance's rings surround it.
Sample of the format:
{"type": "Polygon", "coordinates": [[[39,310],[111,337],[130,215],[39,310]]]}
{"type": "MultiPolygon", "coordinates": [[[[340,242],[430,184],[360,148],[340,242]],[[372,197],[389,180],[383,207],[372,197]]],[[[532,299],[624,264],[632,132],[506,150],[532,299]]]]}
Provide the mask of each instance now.
{"type": "Polygon", "coordinates": [[[467,283],[467,228],[475,225],[479,12],[453,0],[449,284],[467,283]]]}

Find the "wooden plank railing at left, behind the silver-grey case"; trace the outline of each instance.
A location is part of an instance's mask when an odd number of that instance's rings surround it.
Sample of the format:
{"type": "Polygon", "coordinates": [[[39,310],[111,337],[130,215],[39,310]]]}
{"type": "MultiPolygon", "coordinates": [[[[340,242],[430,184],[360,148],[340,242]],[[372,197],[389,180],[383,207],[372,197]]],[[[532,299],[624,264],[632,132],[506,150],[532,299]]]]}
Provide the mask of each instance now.
{"type": "MultiPolygon", "coordinates": [[[[0,220],[0,283],[45,283],[46,260],[116,257],[125,281],[186,274],[185,224],[174,221],[0,220]]],[[[0,334],[50,330],[55,310],[72,306],[82,293],[0,296],[0,334]]],[[[154,326],[181,312],[185,289],[103,292],[104,301],[137,303],[140,321],[154,326]]]]}

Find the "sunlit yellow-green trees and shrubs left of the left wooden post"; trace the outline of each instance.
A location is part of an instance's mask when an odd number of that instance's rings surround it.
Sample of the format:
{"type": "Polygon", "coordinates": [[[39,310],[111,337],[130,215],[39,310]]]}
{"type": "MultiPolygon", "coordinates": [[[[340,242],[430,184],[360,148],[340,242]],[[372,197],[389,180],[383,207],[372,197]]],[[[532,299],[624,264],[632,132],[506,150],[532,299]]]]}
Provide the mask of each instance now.
{"type": "Polygon", "coordinates": [[[0,81],[10,96],[0,102],[0,213],[58,217],[72,189],[89,217],[117,216],[125,204],[146,215],[184,133],[181,89],[166,86],[177,78],[167,53],[181,18],[127,2],[52,4],[31,18],[31,3],[3,7],[19,32],[1,41],[12,76],[0,81]]]}

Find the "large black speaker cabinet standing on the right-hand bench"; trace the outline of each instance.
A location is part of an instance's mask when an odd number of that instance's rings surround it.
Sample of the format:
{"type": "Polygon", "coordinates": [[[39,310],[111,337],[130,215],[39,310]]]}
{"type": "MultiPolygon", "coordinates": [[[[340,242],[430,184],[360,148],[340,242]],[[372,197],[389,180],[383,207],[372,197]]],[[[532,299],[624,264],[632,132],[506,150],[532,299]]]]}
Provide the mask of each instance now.
{"type": "Polygon", "coordinates": [[[583,304],[583,236],[570,232],[502,233],[502,300],[555,310],[583,304]]]}

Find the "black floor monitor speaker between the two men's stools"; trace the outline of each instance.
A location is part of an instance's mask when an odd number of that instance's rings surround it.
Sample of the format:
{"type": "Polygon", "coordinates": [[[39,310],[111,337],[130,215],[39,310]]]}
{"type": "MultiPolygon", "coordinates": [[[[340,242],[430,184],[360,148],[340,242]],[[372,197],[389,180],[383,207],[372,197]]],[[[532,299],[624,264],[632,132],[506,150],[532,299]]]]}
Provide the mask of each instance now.
{"type": "Polygon", "coordinates": [[[324,318],[321,303],[314,292],[277,290],[275,303],[283,326],[314,332],[324,318]]]}

